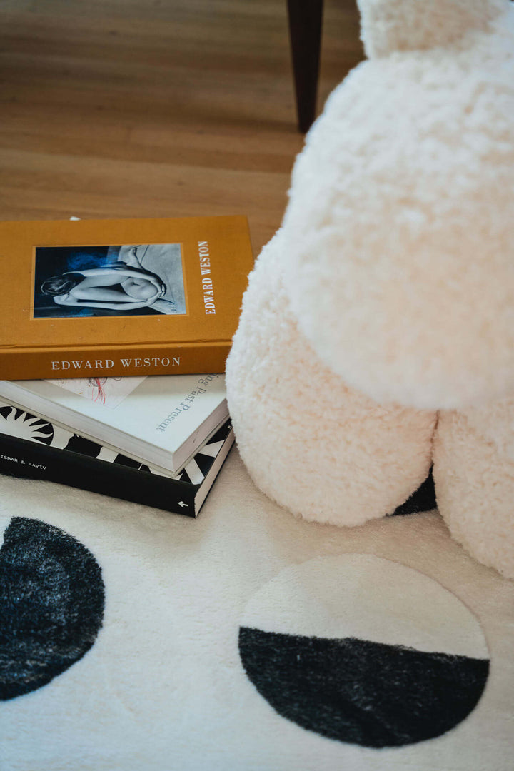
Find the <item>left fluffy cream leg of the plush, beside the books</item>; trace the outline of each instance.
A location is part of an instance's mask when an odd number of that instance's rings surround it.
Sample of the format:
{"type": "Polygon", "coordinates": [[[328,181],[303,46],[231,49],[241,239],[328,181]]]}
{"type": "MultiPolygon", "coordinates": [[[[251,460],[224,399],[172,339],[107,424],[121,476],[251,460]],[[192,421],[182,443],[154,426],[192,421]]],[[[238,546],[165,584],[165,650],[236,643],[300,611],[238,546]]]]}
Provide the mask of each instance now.
{"type": "Polygon", "coordinates": [[[425,480],[435,413],[379,406],[317,359],[284,291],[282,232],[250,276],[227,362],[237,444],[257,487],[293,513],[361,524],[425,480]]]}

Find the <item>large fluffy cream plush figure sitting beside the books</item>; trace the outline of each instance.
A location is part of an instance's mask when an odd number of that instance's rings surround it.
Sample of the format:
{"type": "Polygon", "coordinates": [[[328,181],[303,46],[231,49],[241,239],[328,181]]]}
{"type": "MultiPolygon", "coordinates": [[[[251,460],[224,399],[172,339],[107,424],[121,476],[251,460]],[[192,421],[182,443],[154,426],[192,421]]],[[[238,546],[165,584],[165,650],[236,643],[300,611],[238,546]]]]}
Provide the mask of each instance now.
{"type": "Polygon", "coordinates": [[[438,509],[514,577],[514,7],[359,0],[227,362],[257,486],[310,520],[438,509]]]}

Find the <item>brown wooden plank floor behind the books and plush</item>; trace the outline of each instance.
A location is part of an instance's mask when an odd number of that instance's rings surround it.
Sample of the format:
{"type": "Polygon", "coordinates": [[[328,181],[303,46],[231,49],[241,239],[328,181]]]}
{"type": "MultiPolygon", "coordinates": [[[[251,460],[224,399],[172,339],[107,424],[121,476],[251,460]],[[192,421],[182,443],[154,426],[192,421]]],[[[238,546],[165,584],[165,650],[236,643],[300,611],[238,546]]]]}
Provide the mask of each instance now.
{"type": "MultiPolygon", "coordinates": [[[[325,0],[319,106],[362,58],[325,0]]],[[[0,0],[0,219],[247,214],[257,254],[296,130],[286,0],[0,0]]]]}

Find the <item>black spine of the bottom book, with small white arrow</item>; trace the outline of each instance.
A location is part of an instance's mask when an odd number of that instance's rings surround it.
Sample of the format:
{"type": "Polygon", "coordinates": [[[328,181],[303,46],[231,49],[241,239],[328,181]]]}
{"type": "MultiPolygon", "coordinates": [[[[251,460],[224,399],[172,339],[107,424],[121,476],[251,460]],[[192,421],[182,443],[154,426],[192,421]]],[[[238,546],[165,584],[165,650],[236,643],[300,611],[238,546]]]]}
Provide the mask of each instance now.
{"type": "Polygon", "coordinates": [[[196,517],[198,513],[195,496],[199,485],[5,434],[0,434],[0,473],[58,482],[186,517],[196,517]]]}

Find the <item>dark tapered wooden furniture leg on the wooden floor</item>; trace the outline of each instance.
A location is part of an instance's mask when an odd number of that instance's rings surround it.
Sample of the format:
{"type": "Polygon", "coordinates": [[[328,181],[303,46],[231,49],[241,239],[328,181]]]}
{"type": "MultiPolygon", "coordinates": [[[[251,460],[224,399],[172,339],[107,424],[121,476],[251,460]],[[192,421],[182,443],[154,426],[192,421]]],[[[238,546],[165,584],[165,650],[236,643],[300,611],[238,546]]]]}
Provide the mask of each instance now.
{"type": "Polygon", "coordinates": [[[316,116],[323,0],[287,0],[298,129],[305,133],[316,116]]]}

